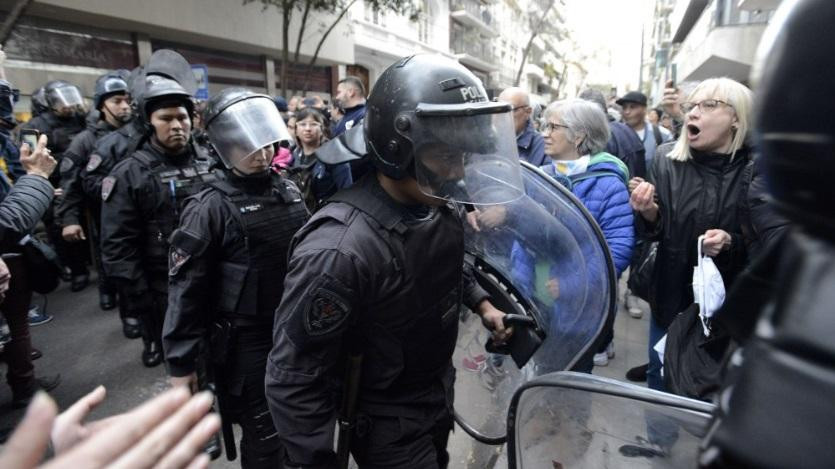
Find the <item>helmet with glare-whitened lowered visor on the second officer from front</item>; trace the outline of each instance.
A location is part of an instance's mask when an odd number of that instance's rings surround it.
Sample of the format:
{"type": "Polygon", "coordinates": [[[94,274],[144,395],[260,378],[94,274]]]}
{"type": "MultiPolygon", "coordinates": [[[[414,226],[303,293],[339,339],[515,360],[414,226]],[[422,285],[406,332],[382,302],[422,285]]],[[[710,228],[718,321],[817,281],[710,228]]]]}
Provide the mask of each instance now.
{"type": "Polygon", "coordinates": [[[245,88],[226,88],[213,96],[203,122],[209,142],[229,169],[265,146],[290,140],[273,99],[245,88]]]}

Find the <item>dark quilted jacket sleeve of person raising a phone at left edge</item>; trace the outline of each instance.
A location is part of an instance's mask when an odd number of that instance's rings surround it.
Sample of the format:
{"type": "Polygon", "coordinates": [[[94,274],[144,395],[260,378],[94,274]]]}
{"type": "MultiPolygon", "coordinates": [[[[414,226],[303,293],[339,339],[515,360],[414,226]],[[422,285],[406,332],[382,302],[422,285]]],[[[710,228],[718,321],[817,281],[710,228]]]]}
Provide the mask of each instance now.
{"type": "Polygon", "coordinates": [[[20,238],[35,228],[52,202],[52,184],[41,176],[17,180],[0,203],[0,251],[15,250],[20,238]]]}

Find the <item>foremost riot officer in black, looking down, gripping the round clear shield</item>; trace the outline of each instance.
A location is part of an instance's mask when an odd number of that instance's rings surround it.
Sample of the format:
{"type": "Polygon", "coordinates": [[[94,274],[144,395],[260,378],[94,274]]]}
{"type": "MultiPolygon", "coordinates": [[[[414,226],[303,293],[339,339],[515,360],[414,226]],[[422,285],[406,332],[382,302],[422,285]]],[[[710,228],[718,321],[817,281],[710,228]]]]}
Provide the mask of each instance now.
{"type": "Polygon", "coordinates": [[[516,155],[494,151],[515,141],[510,113],[443,57],[378,79],[364,121],[376,171],[296,234],[276,312],[267,398],[288,466],[336,464],[341,396],[340,463],[347,446],[360,467],[446,467],[461,303],[508,335],[464,266],[459,203],[521,196],[516,155]]]}

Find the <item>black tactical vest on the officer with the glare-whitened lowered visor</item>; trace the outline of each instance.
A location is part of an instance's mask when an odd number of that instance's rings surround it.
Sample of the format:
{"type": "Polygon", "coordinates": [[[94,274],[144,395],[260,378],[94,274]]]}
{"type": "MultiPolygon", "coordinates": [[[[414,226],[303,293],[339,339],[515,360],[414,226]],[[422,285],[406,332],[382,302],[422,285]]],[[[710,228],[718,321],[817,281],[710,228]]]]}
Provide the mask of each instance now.
{"type": "Polygon", "coordinates": [[[284,179],[263,196],[245,194],[227,181],[210,185],[235,206],[247,253],[245,263],[220,263],[218,312],[272,321],[284,292],[290,241],[309,217],[301,194],[284,179]]]}

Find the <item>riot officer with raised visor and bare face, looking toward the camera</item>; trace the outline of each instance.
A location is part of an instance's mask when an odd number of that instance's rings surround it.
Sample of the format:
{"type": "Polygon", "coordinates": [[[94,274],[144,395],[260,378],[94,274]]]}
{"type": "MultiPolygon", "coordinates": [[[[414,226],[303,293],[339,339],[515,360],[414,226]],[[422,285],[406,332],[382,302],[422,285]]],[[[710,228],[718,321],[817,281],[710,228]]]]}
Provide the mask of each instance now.
{"type": "Polygon", "coordinates": [[[191,95],[170,78],[149,75],[138,108],[144,143],[102,181],[102,263],[126,304],[142,317],[142,363],[162,362],[168,298],[168,240],[182,201],[214,175],[196,161],[191,95]]]}

